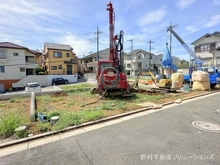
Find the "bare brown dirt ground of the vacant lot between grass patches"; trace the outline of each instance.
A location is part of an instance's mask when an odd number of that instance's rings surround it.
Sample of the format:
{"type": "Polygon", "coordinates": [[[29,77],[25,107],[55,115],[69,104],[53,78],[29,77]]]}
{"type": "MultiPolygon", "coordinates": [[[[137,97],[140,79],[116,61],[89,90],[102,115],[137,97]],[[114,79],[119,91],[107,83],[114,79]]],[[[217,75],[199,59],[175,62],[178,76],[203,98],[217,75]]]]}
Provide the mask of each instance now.
{"type": "MultiPolygon", "coordinates": [[[[162,104],[170,101],[174,101],[176,99],[183,99],[187,97],[192,97],[200,94],[208,93],[207,91],[194,91],[194,92],[176,92],[176,93],[166,93],[161,94],[159,92],[144,92],[142,91],[139,93],[138,96],[141,97],[154,97],[159,96],[160,98],[155,101],[157,104],[162,104]]],[[[52,94],[48,97],[38,99],[37,98],[37,110],[40,112],[47,112],[47,111],[53,111],[53,110],[65,110],[65,111],[71,111],[71,112],[78,112],[82,110],[95,110],[96,108],[99,108],[100,106],[103,106],[104,103],[110,102],[112,110],[104,110],[104,117],[109,117],[117,114],[121,114],[124,112],[133,111],[136,109],[143,108],[140,105],[137,105],[137,103],[142,103],[144,101],[138,101],[138,96],[136,98],[134,97],[128,97],[128,98],[117,98],[114,104],[114,99],[112,98],[103,98],[96,102],[100,96],[99,95],[89,95],[89,94],[81,94],[81,93],[75,93],[75,94],[67,94],[64,92],[60,92],[57,94],[52,94]],[[125,109],[118,109],[117,108],[117,101],[122,101],[126,104],[125,109]],[[92,103],[94,104],[84,106],[83,108],[80,108],[84,104],[92,103]]],[[[16,100],[2,100],[0,101],[0,116],[1,115],[7,115],[8,113],[16,111],[22,116],[26,117],[26,120],[29,120],[29,113],[30,113],[30,98],[17,98],[16,100]]],[[[35,132],[36,134],[39,134],[37,131],[37,122],[31,123],[29,122],[29,130],[31,132],[35,132]]]]}

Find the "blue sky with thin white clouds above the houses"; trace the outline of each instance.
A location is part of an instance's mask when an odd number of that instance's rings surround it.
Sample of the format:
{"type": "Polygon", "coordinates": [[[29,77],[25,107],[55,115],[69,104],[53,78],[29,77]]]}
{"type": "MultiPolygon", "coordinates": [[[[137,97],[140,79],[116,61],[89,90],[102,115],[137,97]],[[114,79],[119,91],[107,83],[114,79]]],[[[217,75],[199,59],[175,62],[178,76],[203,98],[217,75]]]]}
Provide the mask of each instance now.
{"type": "MultiPolygon", "coordinates": [[[[43,50],[45,42],[71,45],[83,56],[109,47],[109,0],[0,0],[0,42],[43,50]]],[[[192,42],[206,33],[220,31],[220,0],[112,0],[115,35],[124,32],[124,52],[143,49],[165,52],[173,30],[193,49],[192,42]],[[133,42],[131,42],[133,40],[133,42]],[[133,43],[133,44],[132,44],[133,43]],[[133,45],[133,47],[132,47],[133,45]]],[[[172,37],[173,56],[189,54],[172,37]]]]}

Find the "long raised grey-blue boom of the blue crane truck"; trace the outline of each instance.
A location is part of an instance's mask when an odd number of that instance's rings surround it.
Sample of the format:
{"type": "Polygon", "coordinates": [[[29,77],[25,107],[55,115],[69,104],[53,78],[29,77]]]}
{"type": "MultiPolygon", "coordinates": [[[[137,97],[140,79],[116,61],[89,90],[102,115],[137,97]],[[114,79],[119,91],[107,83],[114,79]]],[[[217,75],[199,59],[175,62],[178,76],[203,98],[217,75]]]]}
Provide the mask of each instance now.
{"type": "Polygon", "coordinates": [[[172,29],[172,27],[168,27],[167,31],[170,31],[176,39],[182,44],[182,46],[186,49],[186,51],[192,56],[196,61],[197,69],[202,67],[203,61],[188,47],[188,45],[178,36],[178,34],[172,29]]]}

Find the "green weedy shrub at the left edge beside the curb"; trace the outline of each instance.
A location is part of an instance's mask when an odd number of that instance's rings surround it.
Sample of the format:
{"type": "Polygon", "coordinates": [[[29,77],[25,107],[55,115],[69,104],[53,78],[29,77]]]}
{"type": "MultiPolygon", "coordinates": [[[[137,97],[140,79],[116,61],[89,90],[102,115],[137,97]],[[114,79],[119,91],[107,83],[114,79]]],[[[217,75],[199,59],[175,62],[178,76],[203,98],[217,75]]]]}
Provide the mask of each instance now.
{"type": "Polygon", "coordinates": [[[0,136],[2,137],[12,136],[14,130],[23,124],[24,124],[24,120],[19,114],[11,113],[8,114],[7,116],[2,116],[0,118],[0,136]]]}

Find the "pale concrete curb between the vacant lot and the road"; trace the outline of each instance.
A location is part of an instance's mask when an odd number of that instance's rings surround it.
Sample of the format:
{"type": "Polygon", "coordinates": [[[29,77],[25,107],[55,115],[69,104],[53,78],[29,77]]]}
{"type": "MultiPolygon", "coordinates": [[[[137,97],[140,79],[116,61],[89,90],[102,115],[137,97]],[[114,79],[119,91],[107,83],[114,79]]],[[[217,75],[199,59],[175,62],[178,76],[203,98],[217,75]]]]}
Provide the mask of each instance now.
{"type": "MultiPolygon", "coordinates": [[[[200,94],[200,95],[196,95],[196,96],[192,96],[192,97],[188,97],[188,98],[185,98],[185,99],[182,99],[182,100],[185,101],[185,100],[189,100],[189,99],[193,99],[193,98],[198,98],[198,97],[201,97],[201,96],[211,95],[211,94],[218,93],[218,92],[220,92],[220,90],[213,91],[213,92],[210,92],[210,93],[200,94]]],[[[167,103],[163,103],[161,105],[162,106],[167,106],[167,105],[174,104],[174,103],[175,103],[174,101],[170,101],[170,102],[167,102],[167,103]]],[[[80,125],[77,125],[77,126],[68,127],[68,128],[62,129],[60,131],[51,131],[51,132],[47,132],[47,133],[43,133],[43,134],[39,134],[39,135],[34,135],[34,136],[31,136],[31,137],[26,137],[26,138],[23,138],[23,139],[18,139],[18,140],[15,140],[15,141],[6,142],[6,143],[3,143],[3,144],[0,144],[0,149],[11,146],[11,145],[15,145],[15,144],[19,144],[19,143],[23,143],[23,142],[27,142],[27,141],[31,141],[31,140],[43,138],[43,137],[50,136],[50,135],[55,135],[55,134],[67,132],[67,131],[70,131],[70,130],[75,130],[75,129],[78,129],[78,128],[81,128],[81,127],[90,126],[90,125],[106,122],[106,121],[109,121],[109,120],[125,117],[125,116],[128,116],[128,115],[136,114],[136,113],[147,111],[147,110],[153,110],[153,109],[154,108],[152,108],[152,107],[141,108],[141,109],[137,109],[135,111],[126,112],[126,113],[123,113],[123,114],[119,114],[119,115],[99,119],[99,120],[96,120],[96,121],[83,123],[83,124],[80,124],[80,125]]]]}

